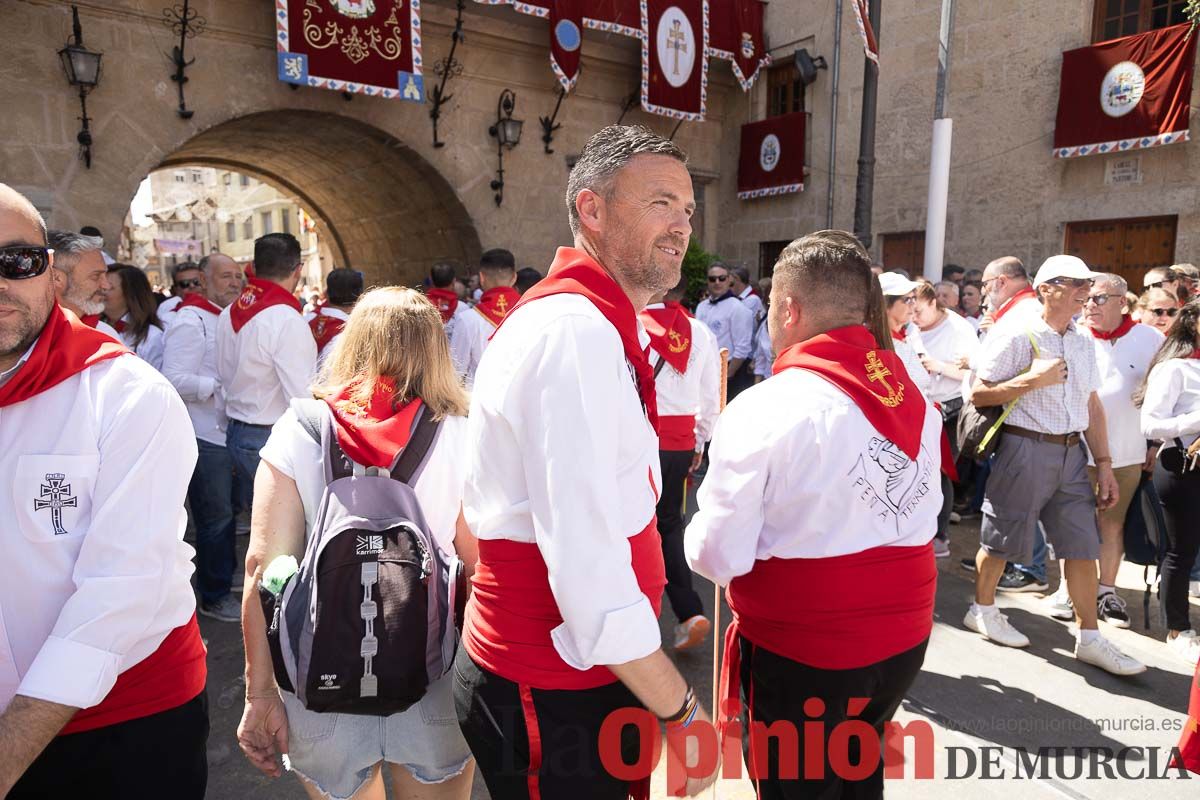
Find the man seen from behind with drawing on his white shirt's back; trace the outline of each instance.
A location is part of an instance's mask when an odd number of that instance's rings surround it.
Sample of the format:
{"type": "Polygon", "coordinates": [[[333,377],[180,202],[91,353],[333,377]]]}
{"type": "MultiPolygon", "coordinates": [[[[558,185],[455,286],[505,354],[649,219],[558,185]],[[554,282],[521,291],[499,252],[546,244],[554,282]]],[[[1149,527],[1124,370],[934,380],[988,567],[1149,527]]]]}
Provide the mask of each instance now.
{"type": "Polygon", "coordinates": [[[932,630],[942,417],[865,327],[872,291],[848,233],[784,249],[775,374],[721,414],[685,535],[692,569],[728,585],[722,702],[745,705],[743,750],[750,720],[786,721],[800,741],[779,750],[806,754],[803,782],[780,775],[778,751],[757,764],[762,798],[882,796],[883,747],[863,746],[868,775],[848,786],[830,768],[830,739],[853,716],[882,742],[932,630]]]}

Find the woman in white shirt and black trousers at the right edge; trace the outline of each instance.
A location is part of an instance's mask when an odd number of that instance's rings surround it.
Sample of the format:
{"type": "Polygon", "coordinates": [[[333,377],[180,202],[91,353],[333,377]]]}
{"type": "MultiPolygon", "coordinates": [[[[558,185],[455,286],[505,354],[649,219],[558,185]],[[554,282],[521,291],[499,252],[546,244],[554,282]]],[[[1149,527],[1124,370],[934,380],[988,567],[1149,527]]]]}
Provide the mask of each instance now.
{"type": "Polygon", "coordinates": [[[1180,311],[1134,399],[1141,404],[1142,435],[1164,443],[1154,465],[1154,488],[1166,517],[1160,590],[1166,645],[1195,664],[1200,637],[1188,614],[1188,573],[1200,552],[1200,302],[1180,311]]]}

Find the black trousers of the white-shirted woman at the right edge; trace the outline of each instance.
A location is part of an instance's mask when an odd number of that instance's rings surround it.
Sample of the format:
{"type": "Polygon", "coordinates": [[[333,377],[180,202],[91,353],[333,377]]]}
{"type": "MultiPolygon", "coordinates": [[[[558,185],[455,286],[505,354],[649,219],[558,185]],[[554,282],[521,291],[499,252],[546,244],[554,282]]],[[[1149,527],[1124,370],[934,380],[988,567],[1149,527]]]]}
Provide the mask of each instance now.
{"type": "Polygon", "coordinates": [[[1154,464],[1154,489],[1166,518],[1166,558],[1159,601],[1172,631],[1192,628],[1188,614],[1188,579],[1200,552],[1200,471],[1175,475],[1154,464]]]}

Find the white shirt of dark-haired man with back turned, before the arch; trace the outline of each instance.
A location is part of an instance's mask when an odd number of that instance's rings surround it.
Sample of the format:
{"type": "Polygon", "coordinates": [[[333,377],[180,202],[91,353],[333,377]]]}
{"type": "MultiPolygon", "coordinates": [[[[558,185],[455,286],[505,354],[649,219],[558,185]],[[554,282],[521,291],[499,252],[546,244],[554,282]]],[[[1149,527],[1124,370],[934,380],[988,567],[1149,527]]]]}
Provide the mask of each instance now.
{"type": "Polygon", "coordinates": [[[288,401],[311,396],[317,342],[290,306],[264,308],[236,333],[229,308],[217,320],[217,375],[224,387],[217,410],[250,425],[275,425],[288,401]]]}

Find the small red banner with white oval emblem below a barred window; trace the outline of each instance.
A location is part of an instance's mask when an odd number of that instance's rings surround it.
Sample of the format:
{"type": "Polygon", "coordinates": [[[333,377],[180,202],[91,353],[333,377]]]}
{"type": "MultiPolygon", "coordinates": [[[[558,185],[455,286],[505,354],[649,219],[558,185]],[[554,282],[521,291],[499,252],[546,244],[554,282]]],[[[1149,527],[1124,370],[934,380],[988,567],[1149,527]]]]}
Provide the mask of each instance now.
{"type": "Polygon", "coordinates": [[[742,126],[738,199],[804,191],[804,122],[796,112],[742,126]]]}

